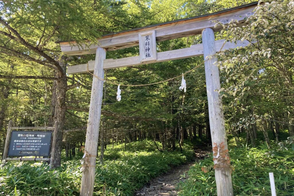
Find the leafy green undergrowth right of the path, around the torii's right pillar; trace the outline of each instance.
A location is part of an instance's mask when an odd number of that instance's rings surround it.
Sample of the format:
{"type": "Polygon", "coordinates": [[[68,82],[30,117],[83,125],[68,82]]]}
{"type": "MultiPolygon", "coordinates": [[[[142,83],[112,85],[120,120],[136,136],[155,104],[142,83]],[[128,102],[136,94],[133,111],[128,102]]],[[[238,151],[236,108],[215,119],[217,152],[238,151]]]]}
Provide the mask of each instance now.
{"type": "MultiPolygon", "coordinates": [[[[294,195],[293,149],[294,146],[268,150],[260,146],[230,150],[234,195],[271,195],[269,172],[274,174],[277,195],[294,195]]],[[[217,195],[212,156],[196,163],[188,175],[179,184],[179,196],[217,195]]]]}

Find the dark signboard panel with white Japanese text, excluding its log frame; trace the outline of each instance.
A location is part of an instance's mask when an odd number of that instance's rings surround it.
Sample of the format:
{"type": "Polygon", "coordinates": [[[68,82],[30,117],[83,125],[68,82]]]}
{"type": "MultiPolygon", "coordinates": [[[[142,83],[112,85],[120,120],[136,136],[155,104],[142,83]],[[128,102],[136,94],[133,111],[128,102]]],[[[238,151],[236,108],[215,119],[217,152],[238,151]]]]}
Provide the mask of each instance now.
{"type": "Polygon", "coordinates": [[[51,131],[12,131],[8,156],[49,157],[51,131]]]}

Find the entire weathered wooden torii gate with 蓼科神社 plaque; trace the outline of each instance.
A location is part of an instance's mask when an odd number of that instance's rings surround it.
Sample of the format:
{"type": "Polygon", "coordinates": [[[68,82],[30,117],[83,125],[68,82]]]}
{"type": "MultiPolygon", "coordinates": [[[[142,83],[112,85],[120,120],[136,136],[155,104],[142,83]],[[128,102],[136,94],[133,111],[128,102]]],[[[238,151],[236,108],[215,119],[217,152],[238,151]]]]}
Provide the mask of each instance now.
{"type": "MultiPolygon", "coordinates": [[[[224,40],[215,41],[214,31],[219,31],[220,26],[214,27],[214,20],[228,24],[237,20],[242,25],[245,17],[252,15],[257,2],[239,6],[233,9],[212,14],[181,19],[162,24],[156,24],[128,31],[121,31],[102,36],[98,44],[89,43],[88,46],[78,46],[76,42],[60,42],[61,51],[67,55],[83,55],[96,53],[95,61],[87,64],[68,67],[68,74],[94,71],[94,75],[104,78],[104,69],[126,66],[136,66],[148,63],[170,61],[194,56],[204,56],[206,89],[208,97],[208,110],[211,138],[213,143],[215,177],[218,196],[233,195],[231,168],[228,156],[225,120],[221,97],[216,89],[220,89],[216,52],[222,49],[246,46],[248,43],[239,41],[237,44],[225,43],[224,40]],[[202,33],[201,44],[193,45],[172,51],[156,52],[156,41],[192,36],[202,33]],[[119,50],[132,46],[140,48],[140,56],[121,59],[106,59],[106,51],[119,50]],[[210,56],[210,58],[206,58],[210,56]]],[[[85,157],[81,182],[81,196],[93,195],[99,124],[101,116],[101,102],[103,81],[93,77],[91,103],[89,109],[88,126],[86,133],[85,157]]]]}

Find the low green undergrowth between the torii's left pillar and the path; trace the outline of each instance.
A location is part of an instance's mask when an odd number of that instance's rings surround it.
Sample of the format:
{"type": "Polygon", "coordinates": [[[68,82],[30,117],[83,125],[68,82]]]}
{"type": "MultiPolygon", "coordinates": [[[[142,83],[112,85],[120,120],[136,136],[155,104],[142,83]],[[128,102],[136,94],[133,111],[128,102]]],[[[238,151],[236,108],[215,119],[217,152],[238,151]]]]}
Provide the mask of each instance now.
{"type": "Polygon", "coordinates": [[[97,167],[95,195],[133,195],[135,190],[151,178],[167,172],[171,167],[186,163],[193,154],[192,147],[188,145],[185,147],[185,153],[159,152],[154,148],[151,151],[150,142],[146,141],[131,143],[128,148],[131,148],[131,151],[124,151],[124,145],[118,145],[105,152],[107,157],[115,154],[119,159],[105,161],[105,165],[97,167]],[[143,145],[146,145],[148,151],[144,151],[143,145]]]}

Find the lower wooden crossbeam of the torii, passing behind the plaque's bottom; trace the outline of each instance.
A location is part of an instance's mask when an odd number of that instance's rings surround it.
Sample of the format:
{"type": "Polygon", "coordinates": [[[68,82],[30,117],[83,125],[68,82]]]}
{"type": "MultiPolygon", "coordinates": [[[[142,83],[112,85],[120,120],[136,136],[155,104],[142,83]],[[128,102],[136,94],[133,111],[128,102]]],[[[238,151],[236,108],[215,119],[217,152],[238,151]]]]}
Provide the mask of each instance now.
{"type": "MultiPolygon", "coordinates": [[[[244,47],[249,44],[248,41],[238,41],[237,44],[226,42],[225,45],[224,39],[216,41],[216,51],[220,51],[229,48],[236,48],[236,47],[244,47]]],[[[151,62],[140,62],[139,56],[127,57],[127,58],[120,58],[120,59],[105,59],[103,63],[103,69],[114,69],[120,67],[128,67],[128,66],[136,66],[136,65],[143,65],[149,63],[158,63],[163,61],[172,61],[181,58],[190,58],[195,56],[203,55],[203,44],[196,44],[192,45],[190,48],[182,48],[177,50],[165,51],[165,52],[158,52],[157,53],[157,61],[151,62]]],[[[95,61],[88,61],[88,70],[94,70],[95,61]]],[[[76,74],[76,73],[86,73],[87,72],[87,64],[69,66],[67,68],[67,74],[76,74]]]]}

